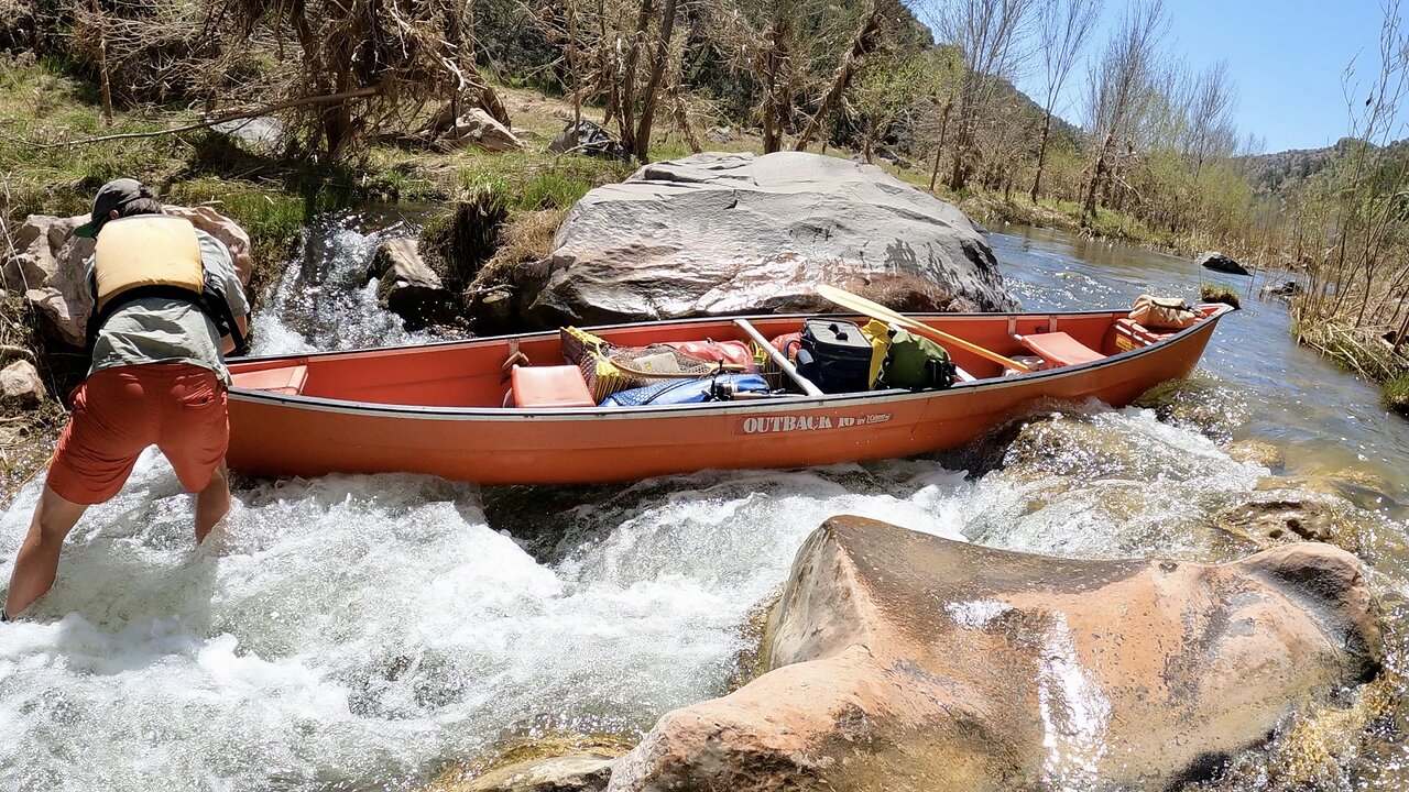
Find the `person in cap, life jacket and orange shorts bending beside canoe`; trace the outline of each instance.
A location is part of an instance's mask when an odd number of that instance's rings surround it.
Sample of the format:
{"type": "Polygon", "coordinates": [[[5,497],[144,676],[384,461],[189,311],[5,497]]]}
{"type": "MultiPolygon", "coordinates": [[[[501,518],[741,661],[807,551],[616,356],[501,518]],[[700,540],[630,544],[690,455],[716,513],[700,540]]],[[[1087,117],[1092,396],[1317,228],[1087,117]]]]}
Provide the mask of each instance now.
{"type": "Polygon", "coordinates": [[[156,445],[196,495],[196,543],[230,510],[224,354],[244,351],[249,304],[230,251],[162,213],[134,179],[99,189],[75,234],[97,240],[89,261],[93,362],[49,462],[44,493],[10,576],[0,620],[54,585],[59,550],[83,512],[123,489],[156,445]]]}

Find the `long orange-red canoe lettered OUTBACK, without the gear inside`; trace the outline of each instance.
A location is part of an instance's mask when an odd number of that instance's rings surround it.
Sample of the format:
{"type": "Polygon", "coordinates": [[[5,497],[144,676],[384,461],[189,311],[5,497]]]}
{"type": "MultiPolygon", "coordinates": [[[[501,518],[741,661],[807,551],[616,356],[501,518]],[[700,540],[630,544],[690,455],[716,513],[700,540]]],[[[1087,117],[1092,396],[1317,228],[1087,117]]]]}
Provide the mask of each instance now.
{"type": "MultiPolygon", "coordinates": [[[[479,483],[586,483],[906,457],[969,443],[1038,399],[1129,404],[1188,376],[1227,310],[1200,306],[1200,321],[1162,335],[1126,311],[914,316],[1007,357],[1037,354],[1044,371],[1003,376],[1000,365],[950,349],[974,379],[947,390],[678,406],[502,407],[513,342],[533,364],[561,365],[557,333],[251,358],[230,366],[228,461],[258,476],[404,471],[479,483]]],[[[796,331],[802,317],[748,321],[772,338],[796,331]]],[[[592,331],[623,347],[748,340],[730,318],[592,331]]]]}

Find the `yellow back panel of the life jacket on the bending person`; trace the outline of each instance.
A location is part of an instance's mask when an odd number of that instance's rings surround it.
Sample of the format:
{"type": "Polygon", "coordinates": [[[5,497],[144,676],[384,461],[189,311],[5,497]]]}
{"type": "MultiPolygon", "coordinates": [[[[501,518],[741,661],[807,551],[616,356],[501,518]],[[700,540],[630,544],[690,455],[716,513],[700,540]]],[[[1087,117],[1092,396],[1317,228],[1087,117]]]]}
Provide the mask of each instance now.
{"type": "Polygon", "coordinates": [[[97,289],[94,313],[134,289],[169,286],[200,297],[206,268],[200,240],[189,220],[166,214],[137,214],[103,224],[93,251],[97,289]]]}

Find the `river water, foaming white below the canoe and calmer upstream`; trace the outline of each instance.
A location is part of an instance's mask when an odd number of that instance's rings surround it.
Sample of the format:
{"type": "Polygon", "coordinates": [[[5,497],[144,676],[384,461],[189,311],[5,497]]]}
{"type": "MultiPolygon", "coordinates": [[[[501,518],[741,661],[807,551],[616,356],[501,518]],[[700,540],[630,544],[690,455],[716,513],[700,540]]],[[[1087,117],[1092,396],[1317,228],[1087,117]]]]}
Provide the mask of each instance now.
{"type": "MultiPolygon", "coordinates": [[[[404,231],[354,216],[310,230],[255,317],[258,351],[418,340],[358,275],[404,231]]],[[[1202,279],[1051,231],[992,242],[1030,309],[1192,297],[1202,279]]],[[[35,619],[0,630],[0,789],[416,789],[513,737],[635,736],[724,692],[750,610],[827,516],[1058,555],[1231,558],[1250,547],[1210,516],[1270,474],[1224,452],[1246,438],[1281,448],[1289,475],[1350,482],[1402,633],[1409,423],[1296,348],[1285,306],[1246,304],[1177,409],[1047,410],[940,458],[578,489],[241,482],[227,528],[193,550],[190,500],[148,452],[73,531],[35,619]]],[[[37,495],[0,514],[0,576],[37,495]]],[[[1334,736],[1371,758],[1333,765],[1324,788],[1405,788],[1402,745],[1360,737],[1334,736]]],[[[1237,788],[1274,785],[1260,762],[1237,788]]]]}

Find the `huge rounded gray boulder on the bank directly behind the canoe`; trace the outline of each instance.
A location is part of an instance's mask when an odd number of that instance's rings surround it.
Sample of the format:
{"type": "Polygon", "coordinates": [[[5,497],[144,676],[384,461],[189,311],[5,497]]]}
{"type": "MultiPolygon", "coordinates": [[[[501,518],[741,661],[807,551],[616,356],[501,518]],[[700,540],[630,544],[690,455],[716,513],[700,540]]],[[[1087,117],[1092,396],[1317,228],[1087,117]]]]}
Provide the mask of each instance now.
{"type": "Polygon", "coordinates": [[[802,152],[697,154],[589,192],[516,275],[530,326],[828,309],[831,283],[900,310],[1010,310],[954,206],[879,168],[802,152]]]}

